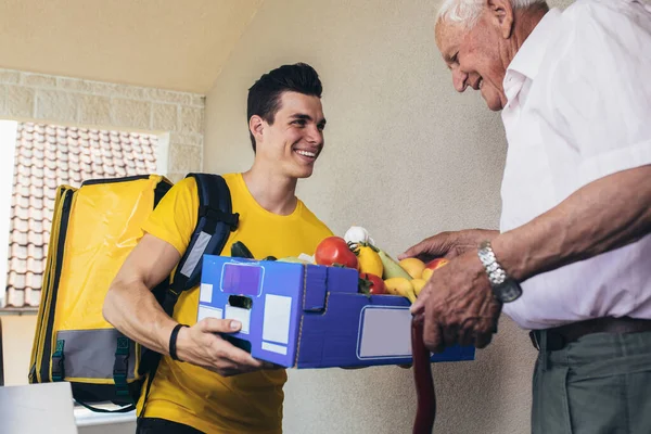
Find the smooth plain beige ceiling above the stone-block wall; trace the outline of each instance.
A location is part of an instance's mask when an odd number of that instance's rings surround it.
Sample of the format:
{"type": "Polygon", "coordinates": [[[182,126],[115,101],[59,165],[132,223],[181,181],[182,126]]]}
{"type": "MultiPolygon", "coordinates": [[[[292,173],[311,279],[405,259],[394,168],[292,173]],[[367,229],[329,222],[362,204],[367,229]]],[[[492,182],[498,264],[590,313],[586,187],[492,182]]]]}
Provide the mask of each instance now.
{"type": "Polygon", "coordinates": [[[0,0],[0,67],[206,93],[264,0],[0,0]]]}

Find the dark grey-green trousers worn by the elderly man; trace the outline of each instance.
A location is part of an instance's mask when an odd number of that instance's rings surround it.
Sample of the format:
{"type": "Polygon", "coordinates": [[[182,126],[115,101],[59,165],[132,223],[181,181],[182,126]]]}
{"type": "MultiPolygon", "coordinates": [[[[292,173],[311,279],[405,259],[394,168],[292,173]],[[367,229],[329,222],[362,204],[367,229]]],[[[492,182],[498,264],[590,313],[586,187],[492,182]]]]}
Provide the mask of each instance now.
{"type": "Polygon", "coordinates": [[[651,433],[651,332],[595,333],[560,350],[542,349],[532,433],[651,433]]]}

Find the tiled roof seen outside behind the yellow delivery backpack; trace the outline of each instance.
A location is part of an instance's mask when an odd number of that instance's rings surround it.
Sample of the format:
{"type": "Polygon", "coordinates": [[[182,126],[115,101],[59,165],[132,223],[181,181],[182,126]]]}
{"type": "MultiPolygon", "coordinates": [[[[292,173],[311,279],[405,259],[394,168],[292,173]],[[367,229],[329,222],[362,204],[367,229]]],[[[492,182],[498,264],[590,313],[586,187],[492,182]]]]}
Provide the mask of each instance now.
{"type": "Polygon", "coordinates": [[[9,235],[7,306],[38,306],[60,184],[156,171],[156,137],[20,123],[9,235]]]}

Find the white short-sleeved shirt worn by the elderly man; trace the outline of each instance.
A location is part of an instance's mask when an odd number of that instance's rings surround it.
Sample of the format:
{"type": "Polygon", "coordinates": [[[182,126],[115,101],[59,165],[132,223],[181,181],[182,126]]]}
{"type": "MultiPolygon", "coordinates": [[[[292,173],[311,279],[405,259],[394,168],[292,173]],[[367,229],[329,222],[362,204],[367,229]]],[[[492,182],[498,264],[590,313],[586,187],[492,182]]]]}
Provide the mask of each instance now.
{"type": "MultiPolygon", "coordinates": [[[[651,164],[651,8],[578,0],[550,10],[503,87],[509,146],[500,229],[508,231],[596,179],[651,164]]],[[[503,311],[525,329],[607,316],[651,319],[651,235],[538,275],[522,289],[503,311]]]]}

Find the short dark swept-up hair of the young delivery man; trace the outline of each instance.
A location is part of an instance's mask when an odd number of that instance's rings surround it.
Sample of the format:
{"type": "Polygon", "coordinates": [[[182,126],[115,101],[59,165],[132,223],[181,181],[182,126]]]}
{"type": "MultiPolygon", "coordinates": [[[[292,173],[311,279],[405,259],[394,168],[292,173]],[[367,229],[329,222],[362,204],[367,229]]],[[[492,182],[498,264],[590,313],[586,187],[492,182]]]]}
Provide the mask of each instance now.
{"type": "MultiPolygon", "coordinates": [[[[323,88],[317,72],[308,64],[282,65],[264,74],[250,89],[246,104],[246,120],[258,115],[269,125],[280,108],[280,95],[283,92],[298,92],[321,98],[323,88]]],[[[255,138],[251,132],[251,145],[255,152],[255,138]]]]}

